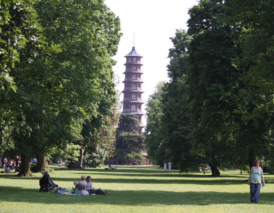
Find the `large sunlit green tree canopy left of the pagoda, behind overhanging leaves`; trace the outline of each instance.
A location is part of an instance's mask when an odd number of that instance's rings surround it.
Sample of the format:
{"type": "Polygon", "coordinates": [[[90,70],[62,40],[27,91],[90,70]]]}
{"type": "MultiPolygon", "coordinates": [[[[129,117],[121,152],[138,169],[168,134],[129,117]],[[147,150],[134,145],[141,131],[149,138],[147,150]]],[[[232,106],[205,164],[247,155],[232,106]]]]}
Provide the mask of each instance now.
{"type": "MultiPolygon", "coordinates": [[[[28,7],[29,12],[19,8],[12,17],[28,22],[24,14],[31,15],[28,23],[33,29],[25,23],[24,30],[28,32],[26,38],[34,41],[24,45],[18,40],[24,47],[18,46],[20,61],[14,67],[7,61],[17,92],[0,91],[1,151],[15,147],[22,155],[45,156],[53,148],[63,148],[73,156],[75,149],[67,144],[84,143],[81,131],[86,120],[94,122],[94,138],[107,138],[99,144],[113,142],[116,91],[112,71],[115,62],[111,57],[121,36],[119,18],[102,1],[37,1],[37,15],[32,1],[21,3],[20,7],[28,7]],[[38,35],[42,30],[44,37],[38,35]]],[[[1,7],[1,12],[11,13],[12,8],[16,9],[13,4],[1,7]]],[[[8,22],[0,26],[8,25],[12,26],[8,22]]],[[[18,33],[10,34],[10,40],[15,41],[18,33]]],[[[24,36],[22,31],[22,39],[24,36]]]]}

